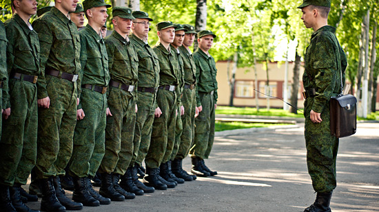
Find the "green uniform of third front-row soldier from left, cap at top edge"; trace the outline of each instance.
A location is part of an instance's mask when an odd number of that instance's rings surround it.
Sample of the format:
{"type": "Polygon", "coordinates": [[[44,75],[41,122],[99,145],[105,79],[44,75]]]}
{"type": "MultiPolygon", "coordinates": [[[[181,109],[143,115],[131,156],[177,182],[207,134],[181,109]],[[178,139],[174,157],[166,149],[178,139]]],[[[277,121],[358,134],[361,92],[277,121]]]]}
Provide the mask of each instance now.
{"type": "Polygon", "coordinates": [[[110,73],[103,38],[90,25],[79,35],[82,89],[78,109],[83,109],[85,117],[76,123],[70,172],[83,178],[96,174],[105,153],[106,87],[110,73]]]}

